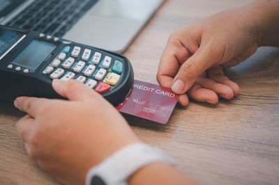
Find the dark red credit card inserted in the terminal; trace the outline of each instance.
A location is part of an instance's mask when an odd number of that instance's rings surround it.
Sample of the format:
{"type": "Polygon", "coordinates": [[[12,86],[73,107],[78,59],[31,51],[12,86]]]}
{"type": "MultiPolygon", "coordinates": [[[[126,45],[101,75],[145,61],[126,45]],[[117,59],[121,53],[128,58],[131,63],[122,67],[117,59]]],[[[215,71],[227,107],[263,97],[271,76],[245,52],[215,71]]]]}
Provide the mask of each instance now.
{"type": "Polygon", "coordinates": [[[116,107],[122,113],[166,124],[179,95],[170,88],[135,80],[131,93],[116,107]]]}

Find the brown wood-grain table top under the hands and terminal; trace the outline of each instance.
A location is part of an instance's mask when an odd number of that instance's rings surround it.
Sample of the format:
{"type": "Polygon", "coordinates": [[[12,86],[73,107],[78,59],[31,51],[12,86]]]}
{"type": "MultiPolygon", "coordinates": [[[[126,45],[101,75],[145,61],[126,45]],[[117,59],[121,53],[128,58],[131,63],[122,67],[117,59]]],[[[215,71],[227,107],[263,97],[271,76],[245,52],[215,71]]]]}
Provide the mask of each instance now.
{"type": "MultiPolygon", "coordinates": [[[[125,52],[135,79],[156,82],[160,55],[170,33],[248,0],[169,0],[125,52]]],[[[241,93],[213,106],[190,101],[176,106],[168,124],[126,117],[146,143],[158,145],[178,168],[201,184],[278,184],[279,51],[262,48],[227,71],[241,93]]],[[[3,88],[3,87],[1,87],[3,88]]],[[[0,184],[59,184],[24,151],[15,122],[24,115],[0,102],[0,184]]]]}

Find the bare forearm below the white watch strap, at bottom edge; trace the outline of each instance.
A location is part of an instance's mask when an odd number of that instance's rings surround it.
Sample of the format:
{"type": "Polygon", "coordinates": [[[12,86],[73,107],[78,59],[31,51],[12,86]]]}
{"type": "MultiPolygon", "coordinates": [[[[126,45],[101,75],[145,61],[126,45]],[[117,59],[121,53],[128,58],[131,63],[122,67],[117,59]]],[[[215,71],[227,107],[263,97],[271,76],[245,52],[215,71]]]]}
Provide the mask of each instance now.
{"type": "Polygon", "coordinates": [[[197,184],[179,170],[166,163],[151,163],[137,170],[130,178],[130,185],[197,184]]]}

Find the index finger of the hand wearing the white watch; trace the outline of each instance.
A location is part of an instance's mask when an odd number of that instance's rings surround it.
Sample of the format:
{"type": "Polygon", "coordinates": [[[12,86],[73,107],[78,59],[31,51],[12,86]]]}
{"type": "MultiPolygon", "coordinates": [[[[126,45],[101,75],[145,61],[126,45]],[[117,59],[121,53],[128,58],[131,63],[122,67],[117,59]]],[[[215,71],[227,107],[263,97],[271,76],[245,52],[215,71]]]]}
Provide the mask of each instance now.
{"type": "Polygon", "coordinates": [[[35,118],[40,107],[45,104],[47,99],[38,98],[38,97],[17,97],[15,99],[15,107],[31,115],[32,118],[35,118]]]}

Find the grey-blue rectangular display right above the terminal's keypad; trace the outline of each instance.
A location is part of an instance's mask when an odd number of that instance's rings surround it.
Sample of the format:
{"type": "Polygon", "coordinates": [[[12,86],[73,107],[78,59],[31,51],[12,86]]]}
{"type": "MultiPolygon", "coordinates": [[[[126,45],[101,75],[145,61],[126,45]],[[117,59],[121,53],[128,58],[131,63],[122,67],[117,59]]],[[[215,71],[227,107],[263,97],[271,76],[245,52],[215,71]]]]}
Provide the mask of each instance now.
{"type": "Polygon", "coordinates": [[[30,70],[36,70],[37,67],[45,61],[56,48],[49,42],[33,40],[13,61],[12,63],[26,67],[30,70]]]}

